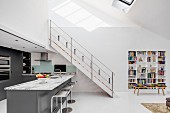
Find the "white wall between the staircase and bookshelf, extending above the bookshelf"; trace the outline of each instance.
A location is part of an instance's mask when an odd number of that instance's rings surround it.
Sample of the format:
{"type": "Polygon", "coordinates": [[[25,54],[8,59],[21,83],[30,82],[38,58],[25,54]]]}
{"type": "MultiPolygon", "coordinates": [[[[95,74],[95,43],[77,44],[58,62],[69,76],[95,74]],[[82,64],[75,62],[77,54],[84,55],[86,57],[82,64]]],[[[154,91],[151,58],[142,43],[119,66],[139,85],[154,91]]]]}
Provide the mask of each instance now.
{"type": "MultiPolygon", "coordinates": [[[[117,91],[128,91],[129,50],[166,50],[166,75],[170,73],[170,41],[142,28],[99,28],[93,32],[81,28],[63,29],[116,73],[117,91]]],[[[167,84],[170,85],[170,77],[167,84]]]]}

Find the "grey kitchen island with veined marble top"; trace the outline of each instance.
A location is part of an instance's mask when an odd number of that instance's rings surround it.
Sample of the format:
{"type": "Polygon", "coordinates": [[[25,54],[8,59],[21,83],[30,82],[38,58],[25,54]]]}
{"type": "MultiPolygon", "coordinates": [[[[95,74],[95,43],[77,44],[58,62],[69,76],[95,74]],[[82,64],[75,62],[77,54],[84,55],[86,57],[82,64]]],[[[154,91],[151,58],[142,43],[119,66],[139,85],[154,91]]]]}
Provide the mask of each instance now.
{"type": "Polygon", "coordinates": [[[74,75],[44,78],[6,87],[7,113],[50,113],[51,97],[65,87],[72,77],[74,75]]]}

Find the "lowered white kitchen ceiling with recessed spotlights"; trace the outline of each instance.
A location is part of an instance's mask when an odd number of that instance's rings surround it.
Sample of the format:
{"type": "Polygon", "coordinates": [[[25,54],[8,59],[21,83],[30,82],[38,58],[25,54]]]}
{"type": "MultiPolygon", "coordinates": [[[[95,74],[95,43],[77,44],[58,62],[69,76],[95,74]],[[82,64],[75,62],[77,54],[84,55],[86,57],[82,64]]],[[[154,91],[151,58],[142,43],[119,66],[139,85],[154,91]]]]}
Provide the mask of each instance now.
{"type": "Polygon", "coordinates": [[[28,42],[19,37],[13,36],[2,30],[0,30],[0,46],[13,48],[16,50],[21,50],[26,52],[46,52],[45,48],[40,47],[32,42],[28,42]]]}

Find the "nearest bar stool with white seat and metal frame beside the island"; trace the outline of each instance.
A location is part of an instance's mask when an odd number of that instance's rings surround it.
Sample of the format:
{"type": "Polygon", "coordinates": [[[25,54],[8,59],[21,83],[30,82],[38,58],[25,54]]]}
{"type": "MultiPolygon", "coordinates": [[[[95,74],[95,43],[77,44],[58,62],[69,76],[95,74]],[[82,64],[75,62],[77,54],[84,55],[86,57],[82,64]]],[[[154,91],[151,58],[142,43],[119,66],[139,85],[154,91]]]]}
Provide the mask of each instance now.
{"type": "MultiPolygon", "coordinates": [[[[53,99],[54,98],[60,98],[60,113],[63,113],[63,99],[62,98],[66,98],[66,108],[67,108],[67,97],[68,95],[70,94],[71,90],[66,90],[66,89],[62,89],[59,93],[55,94],[54,96],[51,97],[51,113],[53,113],[54,109],[53,109],[53,99]]],[[[56,104],[57,104],[57,101],[56,101],[56,104]]],[[[67,109],[66,111],[64,112],[67,112],[69,113],[69,109],[67,109]]]]}

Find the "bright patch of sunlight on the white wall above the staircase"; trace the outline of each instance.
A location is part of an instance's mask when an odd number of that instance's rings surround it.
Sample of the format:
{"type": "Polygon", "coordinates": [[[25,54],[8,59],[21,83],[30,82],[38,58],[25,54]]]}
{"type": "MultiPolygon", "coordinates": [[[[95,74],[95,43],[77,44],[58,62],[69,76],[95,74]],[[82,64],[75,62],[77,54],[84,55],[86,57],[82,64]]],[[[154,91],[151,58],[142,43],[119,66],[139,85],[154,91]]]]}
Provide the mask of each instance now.
{"type": "Polygon", "coordinates": [[[105,23],[103,20],[91,14],[71,0],[67,0],[58,5],[53,8],[52,11],[54,11],[57,15],[64,17],[77,27],[82,27],[89,32],[97,29],[98,27],[111,27],[109,24],[105,23]]]}

